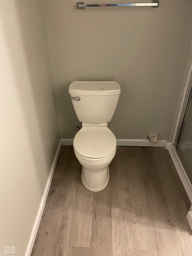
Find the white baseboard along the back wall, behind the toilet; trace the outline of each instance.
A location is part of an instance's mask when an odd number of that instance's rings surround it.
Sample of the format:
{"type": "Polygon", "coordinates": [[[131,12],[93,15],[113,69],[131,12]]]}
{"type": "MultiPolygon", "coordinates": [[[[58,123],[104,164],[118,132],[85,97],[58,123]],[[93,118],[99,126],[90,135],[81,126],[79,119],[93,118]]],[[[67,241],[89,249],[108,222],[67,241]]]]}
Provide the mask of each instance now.
{"type": "MultiPolygon", "coordinates": [[[[73,139],[62,139],[62,145],[73,146],[73,139]]],[[[117,146],[164,147],[170,149],[171,143],[167,143],[167,140],[152,143],[150,140],[117,139],[117,146]]]]}

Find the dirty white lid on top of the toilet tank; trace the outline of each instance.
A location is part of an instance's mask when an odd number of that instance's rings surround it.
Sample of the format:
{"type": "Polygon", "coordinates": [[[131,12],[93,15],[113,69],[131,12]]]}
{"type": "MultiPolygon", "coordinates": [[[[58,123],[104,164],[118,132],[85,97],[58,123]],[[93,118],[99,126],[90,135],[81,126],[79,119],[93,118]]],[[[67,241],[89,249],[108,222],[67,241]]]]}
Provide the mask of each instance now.
{"type": "Polygon", "coordinates": [[[90,96],[115,95],[121,93],[121,87],[115,81],[74,81],[69,86],[69,93],[90,96]]]}

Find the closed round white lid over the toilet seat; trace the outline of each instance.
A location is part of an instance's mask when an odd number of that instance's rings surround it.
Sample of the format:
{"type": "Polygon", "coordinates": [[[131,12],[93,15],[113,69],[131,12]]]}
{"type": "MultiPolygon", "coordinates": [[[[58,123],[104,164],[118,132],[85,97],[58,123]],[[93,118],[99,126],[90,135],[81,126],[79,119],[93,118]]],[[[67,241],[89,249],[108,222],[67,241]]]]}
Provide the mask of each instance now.
{"type": "Polygon", "coordinates": [[[107,127],[83,127],[75,135],[73,147],[87,158],[102,158],[116,148],[116,137],[107,127]]]}

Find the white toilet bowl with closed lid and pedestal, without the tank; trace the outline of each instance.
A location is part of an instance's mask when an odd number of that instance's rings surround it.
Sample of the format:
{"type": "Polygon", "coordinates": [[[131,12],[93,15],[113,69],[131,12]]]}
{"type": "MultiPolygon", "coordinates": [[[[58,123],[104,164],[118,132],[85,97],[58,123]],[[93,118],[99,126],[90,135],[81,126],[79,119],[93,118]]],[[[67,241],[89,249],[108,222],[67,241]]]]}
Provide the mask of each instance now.
{"type": "Polygon", "coordinates": [[[98,192],[109,182],[109,164],[116,154],[116,138],[107,127],[84,127],[74,137],[73,148],[82,165],[85,188],[98,192]]]}

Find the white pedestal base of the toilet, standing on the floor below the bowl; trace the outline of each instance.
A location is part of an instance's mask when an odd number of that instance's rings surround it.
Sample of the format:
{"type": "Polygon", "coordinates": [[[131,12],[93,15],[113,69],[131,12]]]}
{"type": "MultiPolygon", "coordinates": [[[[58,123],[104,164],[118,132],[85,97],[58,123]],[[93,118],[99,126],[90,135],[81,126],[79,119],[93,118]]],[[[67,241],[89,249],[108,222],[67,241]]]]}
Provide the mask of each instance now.
{"type": "Polygon", "coordinates": [[[81,181],[83,186],[92,192],[99,192],[109,183],[109,166],[102,170],[92,171],[82,166],[81,181]]]}

